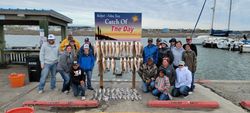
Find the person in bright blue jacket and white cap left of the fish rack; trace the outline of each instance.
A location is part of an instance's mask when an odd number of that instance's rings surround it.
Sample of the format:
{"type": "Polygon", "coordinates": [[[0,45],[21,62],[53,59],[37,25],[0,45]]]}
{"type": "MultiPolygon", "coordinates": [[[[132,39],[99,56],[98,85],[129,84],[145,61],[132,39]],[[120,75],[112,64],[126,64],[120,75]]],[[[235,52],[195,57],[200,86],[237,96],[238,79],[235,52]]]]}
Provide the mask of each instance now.
{"type": "Polygon", "coordinates": [[[78,62],[80,68],[87,75],[87,87],[89,90],[94,90],[91,86],[92,70],[95,65],[95,57],[90,53],[89,44],[83,45],[83,54],[79,56],[78,62]]]}

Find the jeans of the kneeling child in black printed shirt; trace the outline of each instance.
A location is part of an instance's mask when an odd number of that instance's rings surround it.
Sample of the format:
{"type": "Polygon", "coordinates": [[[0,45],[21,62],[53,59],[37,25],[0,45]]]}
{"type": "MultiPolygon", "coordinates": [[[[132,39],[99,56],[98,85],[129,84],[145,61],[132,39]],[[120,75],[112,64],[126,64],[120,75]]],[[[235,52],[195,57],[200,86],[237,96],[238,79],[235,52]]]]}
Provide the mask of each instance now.
{"type": "Polygon", "coordinates": [[[78,96],[79,93],[81,93],[81,96],[85,96],[85,89],[86,89],[85,83],[84,85],[78,85],[78,84],[72,83],[71,86],[72,86],[75,97],[78,96]]]}

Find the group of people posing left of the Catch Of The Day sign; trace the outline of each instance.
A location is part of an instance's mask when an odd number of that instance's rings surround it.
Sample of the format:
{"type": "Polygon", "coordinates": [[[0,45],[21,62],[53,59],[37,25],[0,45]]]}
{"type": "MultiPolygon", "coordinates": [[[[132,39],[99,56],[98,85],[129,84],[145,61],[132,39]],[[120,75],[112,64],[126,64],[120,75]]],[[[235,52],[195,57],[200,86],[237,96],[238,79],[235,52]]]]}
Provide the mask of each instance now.
{"type": "Polygon", "coordinates": [[[74,96],[80,95],[82,100],[85,100],[85,90],[93,90],[91,78],[95,64],[94,48],[88,38],[80,46],[79,41],[71,34],[60,43],[60,46],[55,44],[55,39],[55,36],[50,34],[47,43],[41,46],[39,59],[42,72],[38,93],[44,92],[49,72],[50,89],[56,90],[56,73],[59,72],[63,78],[61,91],[67,94],[72,87],[74,96]]]}

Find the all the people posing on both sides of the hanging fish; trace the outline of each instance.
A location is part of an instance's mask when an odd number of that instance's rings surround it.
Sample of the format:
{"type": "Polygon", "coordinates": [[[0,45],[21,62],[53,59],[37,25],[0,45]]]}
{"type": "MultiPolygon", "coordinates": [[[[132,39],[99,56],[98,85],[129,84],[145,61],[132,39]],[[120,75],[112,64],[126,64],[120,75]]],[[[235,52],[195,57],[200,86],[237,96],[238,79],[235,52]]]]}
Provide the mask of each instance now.
{"type": "MultiPolygon", "coordinates": [[[[93,90],[94,47],[88,38],[82,46],[72,35],[68,35],[60,46],[55,44],[55,39],[50,34],[47,43],[41,46],[39,58],[42,72],[38,93],[44,92],[49,72],[50,89],[56,90],[56,73],[59,72],[63,78],[61,91],[68,94],[72,88],[74,96],[80,95],[85,100],[85,90],[93,90]]],[[[160,100],[170,100],[172,96],[186,97],[194,90],[197,49],[191,38],[186,41],[182,46],[182,42],[174,38],[169,41],[170,44],[158,38],[155,45],[152,38],[148,39],[148,45],[143,48],[143,64],[138,70],[144,92],[152,92],[160,100]]]]}

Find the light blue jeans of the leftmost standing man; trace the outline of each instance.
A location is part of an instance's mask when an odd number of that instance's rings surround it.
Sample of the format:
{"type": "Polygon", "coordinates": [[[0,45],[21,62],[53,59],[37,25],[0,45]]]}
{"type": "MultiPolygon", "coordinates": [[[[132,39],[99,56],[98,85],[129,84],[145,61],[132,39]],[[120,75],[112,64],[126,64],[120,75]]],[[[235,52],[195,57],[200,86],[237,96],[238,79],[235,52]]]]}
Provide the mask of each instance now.
{"type": "Polygon", "coordinates": [[[39,91],[44,89],[46,78],[49,74],[49,71],[51,73],[50,89],[56,88],[56,65],[57,63],[44,64],[44,67],[41,72],[41,78],[40,78],[39,89],[38,89],[39,91]]]}

